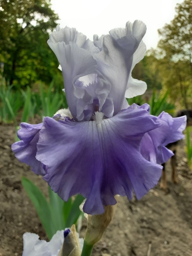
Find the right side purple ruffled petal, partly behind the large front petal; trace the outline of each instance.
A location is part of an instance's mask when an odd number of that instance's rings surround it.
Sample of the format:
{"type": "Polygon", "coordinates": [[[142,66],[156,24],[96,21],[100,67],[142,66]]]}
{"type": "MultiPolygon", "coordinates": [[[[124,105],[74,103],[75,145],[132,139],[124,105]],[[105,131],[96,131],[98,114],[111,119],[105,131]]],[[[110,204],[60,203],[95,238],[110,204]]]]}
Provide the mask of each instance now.
{"type": "Polygon", "coordinates": [[[186,120],[186,116],[173,118],[168,113],[162,112],[158,116],[158,121],[162,123],[162,126],[143,136],[142,156],[154,164],[167,162],[174,154],[165,146],[184,138],[182,132],[186,127],[186,120]]]}

